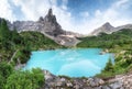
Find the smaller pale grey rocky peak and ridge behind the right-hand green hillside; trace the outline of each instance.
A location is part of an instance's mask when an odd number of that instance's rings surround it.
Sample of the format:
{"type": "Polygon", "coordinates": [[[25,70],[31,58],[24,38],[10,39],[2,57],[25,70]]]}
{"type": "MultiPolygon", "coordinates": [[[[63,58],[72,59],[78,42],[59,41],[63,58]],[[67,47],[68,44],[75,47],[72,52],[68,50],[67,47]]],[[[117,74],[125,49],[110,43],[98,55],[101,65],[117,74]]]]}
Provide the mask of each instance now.
{"type": "Polygon", "coordinates": [[[113,32],[120,31],[122,29],[132,29],[132,24],[121,25],[121,26],[112,26],[109,22],[105,23],[102,26],[94,30],[91,35],[99,35],[99,33],[111,34],[113,32]]]}

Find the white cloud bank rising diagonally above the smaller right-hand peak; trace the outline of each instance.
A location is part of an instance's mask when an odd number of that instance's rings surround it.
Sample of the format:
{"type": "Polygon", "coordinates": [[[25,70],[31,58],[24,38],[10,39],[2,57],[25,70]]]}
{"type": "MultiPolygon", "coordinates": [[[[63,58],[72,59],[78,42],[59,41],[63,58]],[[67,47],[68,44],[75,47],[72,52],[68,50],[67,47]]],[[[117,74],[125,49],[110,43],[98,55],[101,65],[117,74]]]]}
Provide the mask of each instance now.
{"type": "Polygon", "coordinates": [[[110,22],[113,26],[119,26],[128,23],[132,23],[132,19],[127,19],[125,9],[132,3],[130,0],[117,0],[106,11],[95,11],[95,16],[90,20],[85,19],[80,25],[77,26],[77,31],[87,34],[92,32],[95,29],[101,26],[106,22],[110,22]]]}

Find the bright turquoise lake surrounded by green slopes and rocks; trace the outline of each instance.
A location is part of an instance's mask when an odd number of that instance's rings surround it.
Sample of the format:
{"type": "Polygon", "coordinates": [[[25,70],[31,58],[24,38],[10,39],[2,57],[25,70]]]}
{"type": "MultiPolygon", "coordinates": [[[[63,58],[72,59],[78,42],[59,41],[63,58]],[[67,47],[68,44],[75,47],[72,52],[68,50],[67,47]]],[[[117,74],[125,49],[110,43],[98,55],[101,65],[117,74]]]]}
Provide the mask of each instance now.
{"type": "Polygon", "coordinates": [[[40,67],[54,75],[92,77],[105,68],[112,54],[100,55],[101,48],[77,48],[32,52],[24,69],[40,67]]]}

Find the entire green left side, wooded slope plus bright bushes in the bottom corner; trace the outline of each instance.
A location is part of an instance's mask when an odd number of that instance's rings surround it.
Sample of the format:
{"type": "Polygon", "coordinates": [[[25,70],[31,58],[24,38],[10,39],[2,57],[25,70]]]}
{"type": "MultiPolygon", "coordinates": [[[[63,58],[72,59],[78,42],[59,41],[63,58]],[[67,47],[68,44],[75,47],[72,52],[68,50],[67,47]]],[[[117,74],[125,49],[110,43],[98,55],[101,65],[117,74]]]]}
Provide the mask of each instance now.
{"type": "Polygon", "coordinates": [[[7,21],[0,20],[0,89],[40,89],[44,86],[43,70],[15,70],[25,64],[32,51],[62,48],[51,38],[38,32],[18,33],[10,31],[7,21]]]}

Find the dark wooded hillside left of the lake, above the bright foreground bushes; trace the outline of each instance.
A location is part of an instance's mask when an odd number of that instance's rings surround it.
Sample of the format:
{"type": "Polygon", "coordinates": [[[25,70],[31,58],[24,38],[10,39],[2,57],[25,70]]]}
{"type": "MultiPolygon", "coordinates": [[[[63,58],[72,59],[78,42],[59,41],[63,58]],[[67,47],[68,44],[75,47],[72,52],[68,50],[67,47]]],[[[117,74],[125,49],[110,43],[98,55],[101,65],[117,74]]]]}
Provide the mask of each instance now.
{"type": "Polygon", "coordinates": [[[32,51],[55,49],[63,46],[40,32],[10,31],[4,19],[0,22],[0,62],[26,63],[32,51]],[[18,60],[19,59],[19,60],[18,60]]]}

